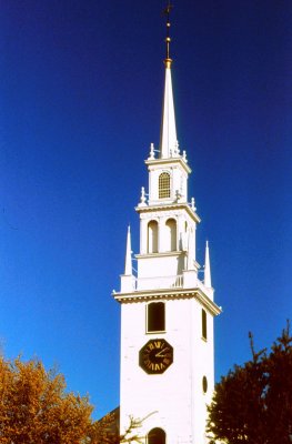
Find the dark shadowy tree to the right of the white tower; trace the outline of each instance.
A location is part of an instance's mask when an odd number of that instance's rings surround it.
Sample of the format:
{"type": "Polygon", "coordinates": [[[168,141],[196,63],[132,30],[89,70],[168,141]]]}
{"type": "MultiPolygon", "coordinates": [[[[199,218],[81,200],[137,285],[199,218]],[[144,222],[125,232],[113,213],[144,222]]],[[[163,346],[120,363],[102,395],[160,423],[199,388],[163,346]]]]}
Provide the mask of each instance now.
{"type": "Polygon", "coordinates": [[[292,337],[290,325],[271,346],[235,365],[215,385],[209,406],[211,443],[292,443],[292,337]]]}

